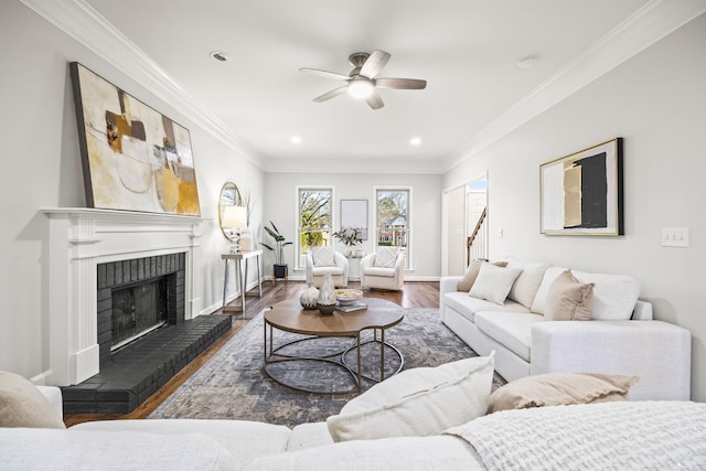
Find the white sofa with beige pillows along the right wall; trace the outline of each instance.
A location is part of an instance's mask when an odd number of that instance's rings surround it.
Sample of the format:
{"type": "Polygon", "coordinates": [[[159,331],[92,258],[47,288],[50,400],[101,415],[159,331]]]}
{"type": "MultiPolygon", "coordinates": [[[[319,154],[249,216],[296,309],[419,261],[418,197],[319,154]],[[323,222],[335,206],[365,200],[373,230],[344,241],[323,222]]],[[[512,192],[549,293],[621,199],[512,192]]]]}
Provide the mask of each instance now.
{"type": "Polygon", "coordinates": [[[504,302],[459,291],[462,277],[445,277],[439,313],[479,355],[494,350],[495,371],[506,381],[561,372],[638,375],[632,399],[691,397],[691,334],[653,320],[652,304],[638,300],[634,278],[571,270],[578,281],[593,283],[591,320],[546,321],[547,295],[567,268],[517,257],[504,261],[521,270],[504,302]]]}

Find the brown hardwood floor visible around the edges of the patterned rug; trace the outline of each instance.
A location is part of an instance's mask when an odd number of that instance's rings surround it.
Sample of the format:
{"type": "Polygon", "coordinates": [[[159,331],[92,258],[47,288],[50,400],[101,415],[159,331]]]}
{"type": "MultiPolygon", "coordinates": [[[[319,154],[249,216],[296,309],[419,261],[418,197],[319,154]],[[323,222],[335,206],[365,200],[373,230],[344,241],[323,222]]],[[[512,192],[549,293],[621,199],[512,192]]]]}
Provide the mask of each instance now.
{"type": "MultiPolygon", "coordinates": [[[[350,288],[357,288],[352,282],[350,288]]],[[[211,358],[221,347],[231,340],[247,322],[257,315],[263,309],[287,299],[299,298],[299,293],[307,288],[300,281],[278,281],[276,285],[269,281],[263,283],[263,298],[258,298],[255,290],[249,291],[246,297],[245,313],[233,314],[233,328],[229,332],[218,339],[206,351],[199,355],[193,362],[181,370],[164,386],[151,395],[145,403],[138,406],[132,413],[127,415],[106,414],[72,414],[64,416],[66,427],[92,420],[114,420],[114,419],[141,419],[149,416],[164,399],[167,399],[182,383],[194,374],[208,358],[211,358]]],[[[438,308],[439,307],[439,283],[429,282],[405,282],[402,291],[375,291],[365,290],[365,297],[379,298],[393,301],[403,308],[438,308]]],[[[233,301],[231,306],[238,306],[239,299],[233,301]]],[[[217,310],[214,314],[221,314],[217,310]]]]}

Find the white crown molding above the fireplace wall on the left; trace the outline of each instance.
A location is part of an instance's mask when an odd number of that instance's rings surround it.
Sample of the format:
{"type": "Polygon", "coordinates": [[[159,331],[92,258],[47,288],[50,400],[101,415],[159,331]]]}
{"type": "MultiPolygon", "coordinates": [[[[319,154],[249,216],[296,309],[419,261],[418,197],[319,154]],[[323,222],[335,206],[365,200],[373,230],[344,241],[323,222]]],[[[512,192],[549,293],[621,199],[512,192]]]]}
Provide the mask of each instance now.
{"type": "Polygon", "coordinates": [[[84,0],[20,1],[261,169],[261,156],[84,0]]]}

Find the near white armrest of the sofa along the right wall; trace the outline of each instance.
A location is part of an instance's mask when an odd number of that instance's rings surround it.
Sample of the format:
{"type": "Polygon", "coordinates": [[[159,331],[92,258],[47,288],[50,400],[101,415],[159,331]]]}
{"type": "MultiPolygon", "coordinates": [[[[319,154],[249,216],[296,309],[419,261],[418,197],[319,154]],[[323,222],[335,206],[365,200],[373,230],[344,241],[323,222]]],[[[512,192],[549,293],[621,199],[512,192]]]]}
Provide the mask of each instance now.
{"type": "Polygon", "coordinates": [[[638,400],[688,400],[691,333],[662,321],[558,321],[532,325],[531,374],[640,376],[638,400]]]}

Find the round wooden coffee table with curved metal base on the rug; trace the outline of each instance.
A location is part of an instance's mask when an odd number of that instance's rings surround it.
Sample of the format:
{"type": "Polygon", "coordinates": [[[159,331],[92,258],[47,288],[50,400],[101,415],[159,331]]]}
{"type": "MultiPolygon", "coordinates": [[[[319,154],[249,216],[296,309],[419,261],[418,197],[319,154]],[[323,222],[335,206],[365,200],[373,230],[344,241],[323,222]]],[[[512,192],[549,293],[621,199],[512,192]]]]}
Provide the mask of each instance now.
{"type": "MultiPolygon", "coordinates": [[[[393,375],[399,373],[404,366],[405,360],[399,350],[385,342],[385,331],[397,325],[405,318],[403,309],[391,301],[383,299],[365,298],[361,300],[367,304],[367,309],[353,312],[334,311],[333,314],[322,315],[318,310],[304,310],[298,299],[291,299],[274,304],[269,310],[265,311],[265,372],[277,383],[291,387],[293,389],[307,393],[325,393],[325,394],[346,394],[360,392],[362,379],[366,378],[372,382],[381,382],[385,378],[385,347],[392,349],[399,356],[399,367],[393,375]],[[287,341],[280,345],[274,344],[272,329],[302,334],[295,340],[287,341]],[[361,342],[363,331],[372,330],[373,339],[361,342]],[[379,340],[378,340],[379,333],[379,340]],[[286,354],[282,352],[286,347],[301,342],[315,342],[317,339],[323,338],[352,338],[354,341],[351,345],[338,351],[333,354],[323,355],[298,355],[286,354]],[[376,342],[379,343],[379,376],[377,378],[365,376],[361,368],[361,345],[376,342]],[[356,365],[350,366],[346,361],[346,354],[355,350],[356,365]],[[347,390],[317,390],[314,388],[295,386],[286,379],[272,374],[268,368],[269,365],[280,362],[309,361],[309,362],[327,362],[338,365],[350,373],[355,382],[355,387],[347,390]]],[[[314,379],[314,378],[312,378],[314,379]]]]}

